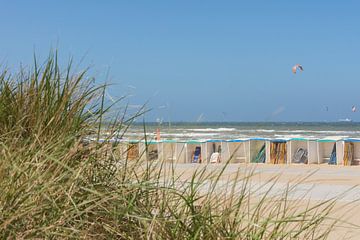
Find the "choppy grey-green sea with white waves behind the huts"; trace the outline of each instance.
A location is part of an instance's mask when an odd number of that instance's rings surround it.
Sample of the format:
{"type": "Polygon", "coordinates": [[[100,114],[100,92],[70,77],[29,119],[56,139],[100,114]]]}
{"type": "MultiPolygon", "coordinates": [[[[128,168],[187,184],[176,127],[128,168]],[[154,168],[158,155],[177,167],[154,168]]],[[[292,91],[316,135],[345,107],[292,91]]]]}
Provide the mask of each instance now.
{"type": "Polygon", "coordinates": [[[360,122],[175,122],[135,123],[122,138],[167,140],[208,140],[243,138],[360,138],[360,122]]]}

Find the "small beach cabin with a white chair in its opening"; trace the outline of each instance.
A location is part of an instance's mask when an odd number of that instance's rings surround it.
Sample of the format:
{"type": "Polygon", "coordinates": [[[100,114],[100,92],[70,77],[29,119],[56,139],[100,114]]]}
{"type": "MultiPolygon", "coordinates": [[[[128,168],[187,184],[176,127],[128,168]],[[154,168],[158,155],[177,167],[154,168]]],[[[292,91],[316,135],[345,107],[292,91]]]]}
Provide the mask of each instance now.
{"type": "Polygon", "coordinates": [[[209,163],[220,163],[227,160],[226,144],[223,140],[206,140],[206,156],[204,160],[209,163]]]}

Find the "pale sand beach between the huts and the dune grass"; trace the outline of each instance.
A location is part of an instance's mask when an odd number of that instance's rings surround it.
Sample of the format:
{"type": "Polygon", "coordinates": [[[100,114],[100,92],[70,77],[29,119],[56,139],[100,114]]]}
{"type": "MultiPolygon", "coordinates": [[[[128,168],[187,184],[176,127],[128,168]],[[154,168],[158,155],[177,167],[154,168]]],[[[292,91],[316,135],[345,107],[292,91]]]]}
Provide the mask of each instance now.
{"type": "MultiPolygon", "coordinates": [[[[167,167],[170,167],[168,164],[167,167]]],[[[174,172],[179,181],[188,181],[195,171],[206,167],[206,171],[217,172],[222,164],[176,164],[174,172]]],[[[329,165],[270,165],[270,164],[229,164],[219,179],[217,192],[223,194],[229,183],[235,181],[237,173],[251,174],[251,188],[260,194],[272,187],[271,194],[292,188],[288,199],[303,206],[336,199],[331,217],[344,221],[338,223],[329,239],[360,238],[360,167],[329,165]]],[[[239,188],[242,180],[236,180],[239,188]]],[[[204,187],[206,191],[207,187],[204,187]]]]}

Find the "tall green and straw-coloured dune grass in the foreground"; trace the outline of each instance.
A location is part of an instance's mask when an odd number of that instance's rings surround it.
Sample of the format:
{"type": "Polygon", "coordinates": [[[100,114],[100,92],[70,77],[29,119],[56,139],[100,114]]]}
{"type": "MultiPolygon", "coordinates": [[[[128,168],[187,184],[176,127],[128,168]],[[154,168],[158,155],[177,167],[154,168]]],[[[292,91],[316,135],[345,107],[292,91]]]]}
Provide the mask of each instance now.
{"type": "MultiPolygon", "coordinates": [[[[0,238],[326,239],[334,201],[298,208],[257,194],[253,173],[220,183],[223,170],[199,169],[186,181],[169,164],[127,161],[117,143],[141,112],[107,115],[106,86],[41,66],[0,75],[0,238]],[[170,170],[169,170],[170,169],[170,170]]],[[[121,104],[121,103],[120,103],[121,104]]],[[[126,104],[125,104],[126,105],[126,104]]]]}

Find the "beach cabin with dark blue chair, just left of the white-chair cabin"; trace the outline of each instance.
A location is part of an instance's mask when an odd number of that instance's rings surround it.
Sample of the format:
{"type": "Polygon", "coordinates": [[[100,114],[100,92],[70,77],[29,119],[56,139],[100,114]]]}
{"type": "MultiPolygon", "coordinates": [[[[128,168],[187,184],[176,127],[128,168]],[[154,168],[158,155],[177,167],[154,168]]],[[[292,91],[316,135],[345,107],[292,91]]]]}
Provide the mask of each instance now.
{"type": "Polygon", "coordinates": [[[207,163],[205,141],[189,140],[185,149],[186,163],[207,163]]]}

